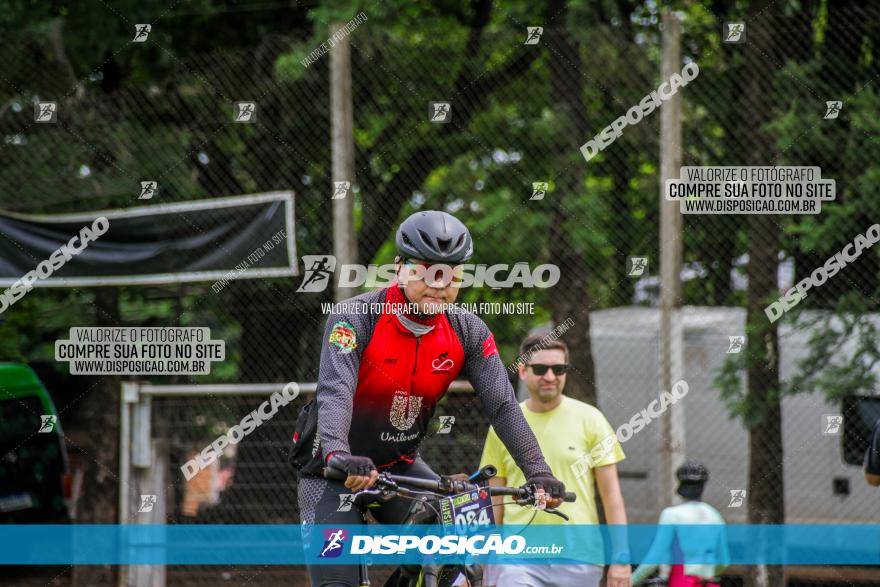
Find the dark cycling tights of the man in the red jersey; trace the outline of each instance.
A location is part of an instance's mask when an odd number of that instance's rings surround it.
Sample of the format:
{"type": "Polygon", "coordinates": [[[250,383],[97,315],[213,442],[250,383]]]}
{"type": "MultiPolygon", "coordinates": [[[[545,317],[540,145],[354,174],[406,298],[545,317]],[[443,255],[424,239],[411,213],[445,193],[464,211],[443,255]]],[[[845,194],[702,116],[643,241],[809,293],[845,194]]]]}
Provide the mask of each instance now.
{"type": "MultiPolygon", "coordinates": [[[[439,479],[422,460],[416,457],[410,464],[398,464],[386,470],[395,475],[407,475],[420,479],[439,479]]],[[[300,523],[354,525],[365,524],[364,514],[356,507],[349,511],[337,511],[340,505],[339,496],[351,493],[342,481],[329,481],[320,477],[303,475],[299,480],[298,497],[300,523]]],[[[416,505],[411,499],[395,497],[384,502],[380,507],[370,508],[370,514],[380,524],[399,524],[416,505]]],[[[352,565],[312,565],[309,566],[312,587],[357,587],[359,581],[358,567],[352,565]]]]}

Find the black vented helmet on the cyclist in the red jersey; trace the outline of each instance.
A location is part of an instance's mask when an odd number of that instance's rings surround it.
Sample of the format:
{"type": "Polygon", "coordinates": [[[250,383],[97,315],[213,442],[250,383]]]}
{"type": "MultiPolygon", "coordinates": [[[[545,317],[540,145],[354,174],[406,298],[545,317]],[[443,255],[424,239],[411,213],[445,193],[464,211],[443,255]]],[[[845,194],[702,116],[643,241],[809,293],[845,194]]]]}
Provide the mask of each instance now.
{"type": "Polygon", "coordinates": [[[405,258],[458,265],[474,254],[474,242],[461,220],[439,210],[416,212],[397,229],[397,250],[405,258]]]}

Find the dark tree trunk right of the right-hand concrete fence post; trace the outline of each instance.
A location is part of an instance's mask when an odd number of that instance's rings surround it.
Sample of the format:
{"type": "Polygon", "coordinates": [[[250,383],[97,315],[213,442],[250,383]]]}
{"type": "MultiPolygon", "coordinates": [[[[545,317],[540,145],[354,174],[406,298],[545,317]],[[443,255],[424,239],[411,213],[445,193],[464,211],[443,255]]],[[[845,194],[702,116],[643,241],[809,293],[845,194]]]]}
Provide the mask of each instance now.
{"type": "MultiPolygon", "coordinates": [[[[768,56],[775,55],[774,32],[778,7],[772,0],[762,0],[754,7],[761,13],[747,19],[749,42],[746,52],[744,99],[748,116],[743,122],[750,128],[745,143],[747,165],[768,165],[774,161],[773,136],[765,129],[773,112],[773,80],[776,67],[768,56]],[[769,4],[769,5],[768,5],[769,4]]],[[[781,216],[754,214],[748,218],[747,325],[748,366],[747,396],[750,417],[749,486],[747,488],[750,524],[785,523],[785,488],[783,475],[782,408],[779,398],[779,338],[777,324],[764,315],[768,300],[778,296],[776,273],[779,259],[779,223],[781,216]]],[[[785,569],[776,565],[748,567],[746,587],[782,587],[785,569]]]]}

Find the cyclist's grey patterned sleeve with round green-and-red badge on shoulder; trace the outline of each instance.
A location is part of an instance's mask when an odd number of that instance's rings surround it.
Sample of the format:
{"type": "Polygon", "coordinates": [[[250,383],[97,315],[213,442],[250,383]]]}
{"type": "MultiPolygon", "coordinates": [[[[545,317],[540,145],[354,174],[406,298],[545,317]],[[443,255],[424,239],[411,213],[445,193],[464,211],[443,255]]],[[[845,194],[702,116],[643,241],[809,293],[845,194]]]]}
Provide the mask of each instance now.
{"type": "Polygon", "coordinates": [[[318,406],[318,435],[321,453],[326,461],[331,452],[351,452],[348,432],[351,427],[354,392],[357,389],[361,353],[370,335],[370,321],[364,314],[331,313],[321,339],[321,366],[318,370],[318,386],[315,403],[318,406]],[[354,344],[349,352],[330,342],[337,324],[351,325],[355,332],[354,344]]]}

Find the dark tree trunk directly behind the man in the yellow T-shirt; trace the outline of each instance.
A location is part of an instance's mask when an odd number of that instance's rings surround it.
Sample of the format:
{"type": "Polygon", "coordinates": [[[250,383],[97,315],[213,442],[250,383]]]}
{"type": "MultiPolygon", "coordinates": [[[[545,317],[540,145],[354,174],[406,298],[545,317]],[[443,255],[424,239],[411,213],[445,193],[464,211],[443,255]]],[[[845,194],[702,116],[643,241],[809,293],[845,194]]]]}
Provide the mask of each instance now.
{"type": "Polygon", "coordinates": [[[549,196],[550,215],[550,262],[560,268],[559,283],[550,295],[553,321],[560,324],[572,318],[574,326],[563,340],[570,350],[569,363],[572,371],[568,376],[565,394],[596,405],[596,376],[590,340],[590,306],[587,291],[589,270],[577,243],[571,238],[571,220],[563,204],[576,198],[586,197],[583,188],[583,165],[579,147],[587,136],[587,115],[583,104],[583,77],[573,75],[581,71],[580,46],[566,28],[566,0],[552,0],[548,5],[547,26],[550,31],[544,38],[550,50],[550,92],[554,111],[566,132],[557,133],[555,149],[556,168],[559,175],[554,179],[557,190],[549,196]],[[567,221],[568,220],[568,221],[567,221]]]}

